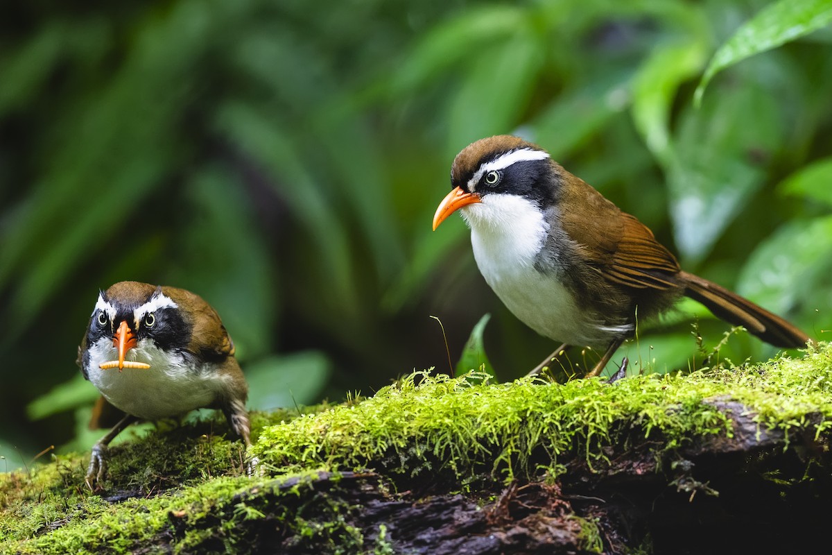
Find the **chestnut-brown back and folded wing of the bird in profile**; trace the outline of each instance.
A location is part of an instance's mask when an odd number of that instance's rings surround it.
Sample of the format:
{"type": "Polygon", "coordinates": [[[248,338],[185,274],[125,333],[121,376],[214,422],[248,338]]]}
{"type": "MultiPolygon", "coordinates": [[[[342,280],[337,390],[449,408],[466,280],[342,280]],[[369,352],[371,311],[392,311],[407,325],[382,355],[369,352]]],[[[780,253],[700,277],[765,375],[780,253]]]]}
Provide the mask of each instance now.
{"type": "MultiPolygon", "coordinates": [[[[556,165],[557,166],[557,165],[556,165]]],[[[678,287],[676,258],[641,221],[622,212],[592,186],[557,166],[564,186],[561,206],[585,210],[563,211],[562,224],[585,260],[607,280],[636,289],[671,290],[678,287]]]]}

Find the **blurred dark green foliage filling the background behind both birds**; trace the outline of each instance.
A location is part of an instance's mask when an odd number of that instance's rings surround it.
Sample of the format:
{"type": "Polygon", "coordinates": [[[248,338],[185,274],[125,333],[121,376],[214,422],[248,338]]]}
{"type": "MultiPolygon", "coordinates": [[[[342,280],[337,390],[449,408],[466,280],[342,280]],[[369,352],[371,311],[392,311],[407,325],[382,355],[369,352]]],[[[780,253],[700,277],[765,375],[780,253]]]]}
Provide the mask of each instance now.
{"type": "MultiPolygon", "coordinates": [[[[215,305],[254,408],[447,370],[485,313],[500,378],[524,374],[552,343],[488,290],[462,221],[430,231],[453,156],[495,133],[545,146],[686,270],[832,325],[828,0],[2,11],[0,471],[100,435],[74,359],[118,280],[215,305]]],[[[633,368],[701,364],[726,330],[683,304],[641,326],[633,368]]],[[[721,356],[771,352],[733,334],[721,356]]]]}

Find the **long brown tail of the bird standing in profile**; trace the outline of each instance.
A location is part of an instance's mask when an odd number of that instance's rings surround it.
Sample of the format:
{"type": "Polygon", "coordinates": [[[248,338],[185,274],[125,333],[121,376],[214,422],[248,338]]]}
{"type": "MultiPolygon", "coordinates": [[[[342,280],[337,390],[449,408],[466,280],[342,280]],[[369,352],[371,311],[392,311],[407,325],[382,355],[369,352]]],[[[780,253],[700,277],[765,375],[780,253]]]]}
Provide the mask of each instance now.
{"type": "Polygon", "coordinates": [[[685,285],[685,295],[706,305],[717,318],[745,327],[766,343],[796,348],[805,347],[810,341],[809,336],[795,325],[721,285],[687,272],[679,272],[678,277],[685,285]]]}

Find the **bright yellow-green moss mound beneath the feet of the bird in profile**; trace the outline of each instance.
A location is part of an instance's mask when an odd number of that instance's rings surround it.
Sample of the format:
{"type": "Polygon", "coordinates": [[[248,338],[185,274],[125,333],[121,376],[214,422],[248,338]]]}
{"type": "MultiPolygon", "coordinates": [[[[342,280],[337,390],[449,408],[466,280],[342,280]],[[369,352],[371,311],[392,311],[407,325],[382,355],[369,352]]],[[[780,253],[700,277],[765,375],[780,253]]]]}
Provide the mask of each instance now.
{"type": "Polygon", "coordinates": [[[612,385],[601,379],[482,384],[415,373],[363,403],[265,428],[252,452],[275,472],[323,465],[409,474],[441,469],[468,478],[484,469],[509,480],[534,471],[530,464],[541,451],[543,466],[559,473],[564,455],[603,463],[605,447],[634,433],[661,434],[667,449],[702,435],[730,435],[730,419],[708,399],[744,404],[765,428],[812,427],[820,434],[832,417],[830,358],[824,344],[803,359],[633,376],[612,385]]]}

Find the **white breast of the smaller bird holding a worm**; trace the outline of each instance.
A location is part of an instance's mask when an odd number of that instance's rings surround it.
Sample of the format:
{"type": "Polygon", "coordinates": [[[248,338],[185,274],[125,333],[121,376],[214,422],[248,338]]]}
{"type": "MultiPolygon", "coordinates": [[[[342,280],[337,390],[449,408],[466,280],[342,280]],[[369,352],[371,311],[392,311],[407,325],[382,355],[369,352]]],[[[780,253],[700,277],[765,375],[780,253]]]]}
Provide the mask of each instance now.
{"type": "Polygon", "coordinates": [[[149,341],[127,351],[127,358],[146,362],[150,369],[102,370],[99,364],[118,358],[112,339],[99,339],[90,349],[87,374],[105,399],[117,409],[141,419],[157,420],[213,404],[223,378],[200,372],[181,354],[168,354],[149,341]]]}

